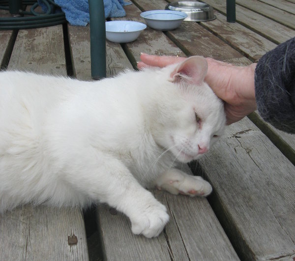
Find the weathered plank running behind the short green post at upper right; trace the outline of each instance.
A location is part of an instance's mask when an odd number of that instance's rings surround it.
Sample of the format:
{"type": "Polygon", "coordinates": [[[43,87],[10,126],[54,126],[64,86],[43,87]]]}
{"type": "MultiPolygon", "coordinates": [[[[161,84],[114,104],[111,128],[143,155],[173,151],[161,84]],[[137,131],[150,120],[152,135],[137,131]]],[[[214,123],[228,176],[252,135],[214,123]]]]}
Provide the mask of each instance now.
{"type": "MultiPolygon", "coordinates": [[[[206,2],[226,15],[226,3],[223,0],[206,0],[206,2]]],[[[245,7],[236,5],[236,22],[259,33],[268,40],[280,44],[294,37],[295,30],[255,13],[245,7]]]]}

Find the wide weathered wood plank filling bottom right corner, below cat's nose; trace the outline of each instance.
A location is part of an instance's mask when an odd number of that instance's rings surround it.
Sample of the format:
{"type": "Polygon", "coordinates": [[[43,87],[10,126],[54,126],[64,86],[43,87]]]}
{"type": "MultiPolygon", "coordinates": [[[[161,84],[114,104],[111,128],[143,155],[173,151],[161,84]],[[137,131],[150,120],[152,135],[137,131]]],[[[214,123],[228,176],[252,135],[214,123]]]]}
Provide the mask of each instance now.
{"type": "MultiPolygon", "coordinates": [[[[200,159],[211,204],[245,260],[295,254],[295,166],[248,119],[200,159]]],[[[291,258],[292,259],[292,258],[291,258]]]]}

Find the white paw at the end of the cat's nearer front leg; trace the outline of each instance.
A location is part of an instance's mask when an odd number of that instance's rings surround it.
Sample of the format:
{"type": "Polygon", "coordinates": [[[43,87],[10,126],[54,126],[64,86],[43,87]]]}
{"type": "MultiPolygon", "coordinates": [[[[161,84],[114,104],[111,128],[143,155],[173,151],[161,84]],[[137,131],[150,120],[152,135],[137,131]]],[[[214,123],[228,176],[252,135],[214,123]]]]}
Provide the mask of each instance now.
{"type": "Polygon", "coordinates": [[[166,207],[161,203],[149,204],[140,210],[137,216],[131,219],[132,232],[134,234],[143,234],[151,238],[158,236],[169,221],[169,215],[166,207]]]}

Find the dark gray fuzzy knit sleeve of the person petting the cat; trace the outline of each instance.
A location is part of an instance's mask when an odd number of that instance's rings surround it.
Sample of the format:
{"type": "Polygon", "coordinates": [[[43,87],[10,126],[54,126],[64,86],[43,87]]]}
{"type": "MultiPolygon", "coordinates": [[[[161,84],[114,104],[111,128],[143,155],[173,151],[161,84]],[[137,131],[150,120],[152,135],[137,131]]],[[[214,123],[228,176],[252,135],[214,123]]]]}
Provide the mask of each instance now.
{"type": "Polygon", "coordinates": [[[259,114],[277,129],[295,133],[295,38],[266,53],[255,69],[259,114]]]}

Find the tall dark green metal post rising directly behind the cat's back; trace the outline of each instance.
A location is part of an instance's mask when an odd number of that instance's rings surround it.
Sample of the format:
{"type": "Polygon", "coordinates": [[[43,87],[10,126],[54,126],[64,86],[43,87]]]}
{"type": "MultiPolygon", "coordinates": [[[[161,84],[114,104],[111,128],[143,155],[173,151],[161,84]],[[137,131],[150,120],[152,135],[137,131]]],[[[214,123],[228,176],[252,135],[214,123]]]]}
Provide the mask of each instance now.
{"type": "Polygon", "coordinates": [[[88,0],[90,14],[91,77],[105,78],[106,69],[106,25],[103,0],[88,0]]]}

